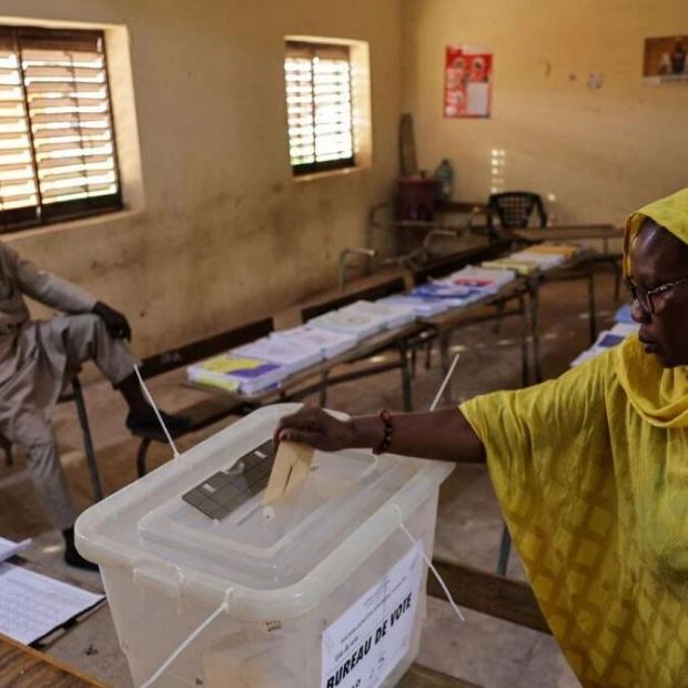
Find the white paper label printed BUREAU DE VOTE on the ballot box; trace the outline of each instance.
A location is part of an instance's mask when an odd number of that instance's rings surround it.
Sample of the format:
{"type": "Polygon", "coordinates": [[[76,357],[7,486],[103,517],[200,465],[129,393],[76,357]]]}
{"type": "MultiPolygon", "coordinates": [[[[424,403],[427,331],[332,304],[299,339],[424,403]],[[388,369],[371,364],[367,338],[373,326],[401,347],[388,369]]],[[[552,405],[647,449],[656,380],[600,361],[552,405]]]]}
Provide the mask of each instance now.
{"type": "Polygon", "coordinates": [[[408,651],[423,578],[422,543],[323,633],[321,688],[376,688],[408,651]]]}

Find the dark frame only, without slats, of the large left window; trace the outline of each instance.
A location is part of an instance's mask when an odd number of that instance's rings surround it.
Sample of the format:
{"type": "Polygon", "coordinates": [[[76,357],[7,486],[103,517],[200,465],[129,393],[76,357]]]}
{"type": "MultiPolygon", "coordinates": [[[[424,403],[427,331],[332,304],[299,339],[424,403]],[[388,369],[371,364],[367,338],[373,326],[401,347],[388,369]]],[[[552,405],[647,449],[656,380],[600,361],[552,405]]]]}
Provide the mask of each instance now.
{"type": "MultiPolygon", "coordinates": [[[[4,39],[7,45],[11,44],[10,51],[13,52],[17,60],[17,73],[19,75],[18,88],[22,94],[23,120],[27,125],[27,136],[29,139],[30,162],[33,172],[33,183],[36,186],[36,205],[19,206],[14,209],[2,209],[2,200],[0,199],[0,234],[9,232],[27,231],[41,226],[47,226],[60,222],[69,222],[85,217],[92,217],[104,213],[112,213],[124,210],[122,198],[122,178],[120,174],[120,162],[117,149],[117,131],[113,115],[112,92],[110,85],[110,73],[108,69],[108,54],[105,49],[105,32],[98,29],[61,29],[61,28],[42,28],[36,26],[11,26],[0,24],[0,42],[4,39]],[[8,41],[8,37],[11,40],[8,41]],[[114,174],[113,193],[94,195],[81,199],[71,199],[64,201],[49,202],[45,194],[41,190],[41,180],[39,171],[41,163],[38,155],[36,144],[36,131],[38,117],[32,115],[29,99],[29,78],[22,51],[30,50],[54,50],[54,51],[84,51],[94,52],[102,58],[101,72],[104,75],[102,90],[104,97],[99,102],[104,103],[105,118],[108,121],[107,130],[112,146],[112,151],[105,154],[112,160],[112,172],[114,174]]],[[[57,61],[55,61],[57,63],[57,61]]],[[[82,121],[81,113],[77,114],[75,128],[80,129],[82,121]]],[[[67,117],[67,115],[65,115],[67,117]]],[[[79,151],[82,152],[83,140],[78,142],[79,151]]],[[[79,158],[79,155],[77,155],[79,158]]],[[[81,155],[83,160],[83,155],[81,155]]],[[[43,170],[47,165],[43,165],[43,170]]],[[[2,165],[0,164],[0,172],[2,165]]],[[[84,185],[88,189],[88,183],[84,185]]],[[[87,192],[88,193],[88,192],[87,192]]]]}

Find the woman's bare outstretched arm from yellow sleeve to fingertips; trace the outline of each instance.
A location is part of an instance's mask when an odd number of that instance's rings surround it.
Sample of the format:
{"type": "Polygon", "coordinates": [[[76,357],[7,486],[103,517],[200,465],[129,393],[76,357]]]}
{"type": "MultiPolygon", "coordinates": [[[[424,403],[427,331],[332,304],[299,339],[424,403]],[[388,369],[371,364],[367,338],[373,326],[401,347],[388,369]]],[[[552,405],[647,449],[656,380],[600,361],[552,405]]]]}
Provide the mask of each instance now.
{"type": "MultiPolygon", "coordinates": [[[[485,447],[458,408],[392,415],[387,452],[449,462],[485,462],[485,447]]],[[[338,421],[321,408],[304,406],[285,416],[275,431],[281,439],[336,452],[380,447],[385,425],[380,415],[338,421]]]]}

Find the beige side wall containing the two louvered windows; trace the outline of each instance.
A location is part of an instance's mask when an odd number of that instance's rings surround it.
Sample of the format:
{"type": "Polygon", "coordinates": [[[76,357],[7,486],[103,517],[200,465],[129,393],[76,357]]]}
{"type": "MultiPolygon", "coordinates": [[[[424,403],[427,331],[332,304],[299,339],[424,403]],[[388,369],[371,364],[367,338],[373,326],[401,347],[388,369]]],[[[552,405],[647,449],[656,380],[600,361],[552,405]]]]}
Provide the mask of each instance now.
{"type": "Polygon", "coordinates": [[[129,31],[144,209],[12,241],[125,312],[140,355],[336,284],[397,174],[398,0],[2,0],[0,17],[129,31]],[[292,180],[286,34],[370,42],[371,169],[292,180]]]}

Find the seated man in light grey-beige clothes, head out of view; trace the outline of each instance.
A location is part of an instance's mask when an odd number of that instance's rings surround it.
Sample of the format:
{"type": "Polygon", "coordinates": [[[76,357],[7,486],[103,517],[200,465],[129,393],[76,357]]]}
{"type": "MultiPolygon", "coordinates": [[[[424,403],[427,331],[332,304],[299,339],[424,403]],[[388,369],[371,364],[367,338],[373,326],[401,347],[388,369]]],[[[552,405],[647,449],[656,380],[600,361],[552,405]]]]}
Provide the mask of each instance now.
{"type": "MultiPolygon", "coordinates": [[[[97,568],[74,547],[77,514],[60,466],[50,416],[58,397],[85,361],[93,361],[127,404],[127,425],[158,427],[142,395],[134,358],[122,340],[131,338],[127,318],[88,292],[39,270],[0,242],[0,433],[27,456],[33,485],[52,523],[62,530],[64,560],[97,568]],[[67,313],[32,321],[24,294],[67,313]]],[[[189,419],[163,414],[172,431],[189,419]]]]}

